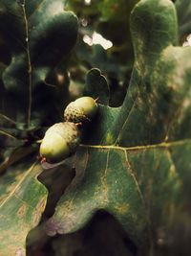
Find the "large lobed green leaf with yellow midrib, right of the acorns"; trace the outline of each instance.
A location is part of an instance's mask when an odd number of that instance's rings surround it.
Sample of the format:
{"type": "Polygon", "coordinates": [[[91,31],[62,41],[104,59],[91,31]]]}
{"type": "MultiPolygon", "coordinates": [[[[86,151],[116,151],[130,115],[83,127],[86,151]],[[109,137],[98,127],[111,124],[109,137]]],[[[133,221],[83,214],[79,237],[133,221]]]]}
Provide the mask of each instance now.
{"type": "Polygon", "coordinates": [[[131,31],[136,60],[124,103],[99,105],[47,230],[74,232],[105,209],[138,247],[148,243],[148,255],[173,246],[172,226],[184,213],[191,218],[191,48],[173,46],[178,23],[169,0],[140,1],[131,31]]]}

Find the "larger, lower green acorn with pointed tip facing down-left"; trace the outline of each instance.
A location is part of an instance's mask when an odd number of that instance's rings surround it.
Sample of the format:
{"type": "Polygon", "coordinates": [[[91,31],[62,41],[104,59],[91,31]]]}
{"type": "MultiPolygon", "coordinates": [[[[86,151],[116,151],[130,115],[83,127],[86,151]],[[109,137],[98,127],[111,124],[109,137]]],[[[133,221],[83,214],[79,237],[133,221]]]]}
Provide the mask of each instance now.
{"type": "Polygon", "coordinates": [[[57,123],[46,131],[40,155],[48,163],[57,163],[73,154],[79,142],[80,133],[74,123],[57,123]]]}

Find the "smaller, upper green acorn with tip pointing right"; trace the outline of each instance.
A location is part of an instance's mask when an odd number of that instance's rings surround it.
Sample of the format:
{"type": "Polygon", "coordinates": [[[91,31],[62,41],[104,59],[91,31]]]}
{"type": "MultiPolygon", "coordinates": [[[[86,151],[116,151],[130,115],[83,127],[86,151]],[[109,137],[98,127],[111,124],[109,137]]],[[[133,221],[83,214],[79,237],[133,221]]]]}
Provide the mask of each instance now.
{"type": "Polygon", "coordinates": [[[97,104],[92,97],[81,97],[67,105],[64,120],[73,123],[87,123],[96,115],[97,104]]]}

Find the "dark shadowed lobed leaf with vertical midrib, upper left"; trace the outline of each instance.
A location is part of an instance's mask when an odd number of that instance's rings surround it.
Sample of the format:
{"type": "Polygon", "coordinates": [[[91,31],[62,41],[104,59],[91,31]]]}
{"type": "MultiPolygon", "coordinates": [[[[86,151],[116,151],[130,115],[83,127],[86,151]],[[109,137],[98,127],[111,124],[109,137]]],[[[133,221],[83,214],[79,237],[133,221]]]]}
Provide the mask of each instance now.
{"type": "Polygon", "coordinates": [[[76,40],[77,19],[73,12],[64,11],[64,2],[0,3],[0,36],[11,54],[3,82],[13,99],[16,119],[23,123],[19,128],[41,125],[55,99],[64,98],[59,86],[46,82],[60,61],[66,61],[76,40]]]}

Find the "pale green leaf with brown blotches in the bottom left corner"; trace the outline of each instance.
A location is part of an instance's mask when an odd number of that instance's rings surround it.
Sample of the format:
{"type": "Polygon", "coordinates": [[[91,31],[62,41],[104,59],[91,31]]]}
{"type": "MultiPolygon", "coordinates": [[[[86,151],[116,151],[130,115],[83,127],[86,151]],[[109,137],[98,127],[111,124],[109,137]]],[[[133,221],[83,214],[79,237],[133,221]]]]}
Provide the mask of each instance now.
{"type": "Polygon", "coordinates": [[[46,188],[37,180],[36,163],[12,166],[0,179],[0,255],[26,255],[25,241],[38,224],[47,200],[46,188]]]}

